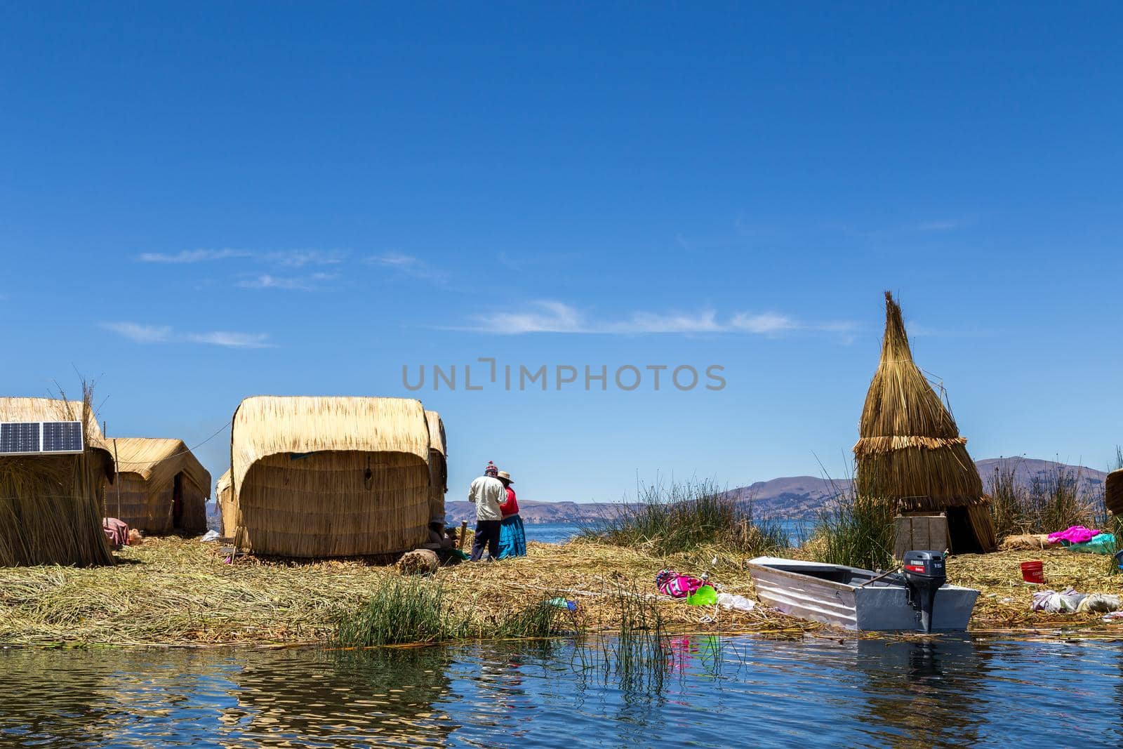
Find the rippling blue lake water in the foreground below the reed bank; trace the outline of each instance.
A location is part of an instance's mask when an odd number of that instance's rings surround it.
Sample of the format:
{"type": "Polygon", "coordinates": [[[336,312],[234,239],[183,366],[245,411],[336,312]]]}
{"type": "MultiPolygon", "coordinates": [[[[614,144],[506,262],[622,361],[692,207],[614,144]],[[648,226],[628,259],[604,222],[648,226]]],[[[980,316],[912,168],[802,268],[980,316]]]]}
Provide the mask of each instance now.
{"type": "Polygon", "coordinates": [[[0,746],[1115,747],[1123,646],[681,639],[661,684],[567,642],[0,650],[0,746]]]}

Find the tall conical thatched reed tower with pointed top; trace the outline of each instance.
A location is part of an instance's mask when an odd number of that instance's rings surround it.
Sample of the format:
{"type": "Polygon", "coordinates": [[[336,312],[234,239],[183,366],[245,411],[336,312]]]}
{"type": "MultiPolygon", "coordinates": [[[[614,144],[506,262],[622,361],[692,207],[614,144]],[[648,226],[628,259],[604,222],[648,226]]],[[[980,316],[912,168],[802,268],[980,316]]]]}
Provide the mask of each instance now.
{"type": "Polygon", "coordinates": [[[967,439],[913,362],[901,308],[885,292],[882,360],[853,446],[857,488],[898,512],[946,512],[953,551],[989,551],[994,526],[967,439]]]}

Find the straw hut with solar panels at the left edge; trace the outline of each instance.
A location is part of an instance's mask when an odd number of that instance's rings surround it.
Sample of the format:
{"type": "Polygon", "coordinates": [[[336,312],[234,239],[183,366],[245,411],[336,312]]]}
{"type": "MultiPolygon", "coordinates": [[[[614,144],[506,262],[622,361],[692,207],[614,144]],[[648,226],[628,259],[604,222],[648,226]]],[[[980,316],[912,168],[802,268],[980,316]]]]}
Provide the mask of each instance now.
{"type": "Polygon", "coordinates": [[[0,421],[81,421],[83,451],[0,455],[0,566],[109,565],[101,529],[113,458],[83,401],[0,398],[0,421]]]}

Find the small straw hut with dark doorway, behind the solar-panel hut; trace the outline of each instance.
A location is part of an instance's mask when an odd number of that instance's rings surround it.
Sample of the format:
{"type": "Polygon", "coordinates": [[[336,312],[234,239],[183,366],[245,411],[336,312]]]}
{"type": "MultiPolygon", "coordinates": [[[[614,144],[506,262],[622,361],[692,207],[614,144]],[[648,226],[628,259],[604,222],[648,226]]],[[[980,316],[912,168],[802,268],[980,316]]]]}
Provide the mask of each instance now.
{"type": "Polygon", "coordinates": [[[207,530],[210,474],[182,439],[115,437],[117,484],[106,510],[154,536],[207,530]]]}

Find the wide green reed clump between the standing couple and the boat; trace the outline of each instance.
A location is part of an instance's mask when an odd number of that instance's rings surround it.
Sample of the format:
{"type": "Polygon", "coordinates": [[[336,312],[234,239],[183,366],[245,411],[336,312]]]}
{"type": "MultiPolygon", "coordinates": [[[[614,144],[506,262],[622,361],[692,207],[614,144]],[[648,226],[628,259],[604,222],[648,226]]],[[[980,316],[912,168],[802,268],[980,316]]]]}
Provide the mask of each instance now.
{"type": "Polygon", "coordinates": [[[718,545],[738,554],[774,554],[788,547],[783,526],[754,513],[752,501],[736,496],[713,479],[688,479],[637,487],[637,501],[621,504],[581,536],[614,546],[641,548],[655,555],[718,545]]]}

